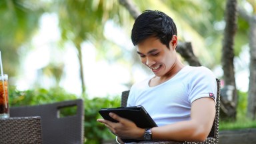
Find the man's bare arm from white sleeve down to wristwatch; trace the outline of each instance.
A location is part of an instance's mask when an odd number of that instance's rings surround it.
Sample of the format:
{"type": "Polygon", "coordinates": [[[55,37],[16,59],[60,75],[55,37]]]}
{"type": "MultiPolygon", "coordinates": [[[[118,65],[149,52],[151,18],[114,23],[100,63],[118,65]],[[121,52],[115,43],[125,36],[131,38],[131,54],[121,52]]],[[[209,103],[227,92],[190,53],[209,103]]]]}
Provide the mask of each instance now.
{"type": "Polygon", "coordinates": [[[215,101],[203,97],[193,101],[191,120],[151,129],[153,140],[204,141],[215,118],[215,101]]]}

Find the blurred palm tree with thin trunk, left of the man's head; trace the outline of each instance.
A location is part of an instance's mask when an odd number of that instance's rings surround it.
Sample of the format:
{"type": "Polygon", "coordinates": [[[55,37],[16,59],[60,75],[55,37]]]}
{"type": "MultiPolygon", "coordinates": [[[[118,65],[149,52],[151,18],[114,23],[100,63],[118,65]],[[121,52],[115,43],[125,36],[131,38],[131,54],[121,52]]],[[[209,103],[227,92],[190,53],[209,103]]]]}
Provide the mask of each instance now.
{"type": "Polygon", "coordinates": [[[80,65],[80,77],[83,94],[85,91],[85,76],[83,74],[83,53],[81,44],[85,41],[103,42],[105,23],[112,19],[123,23],[125,16],[117,2],[109,1],[56,1],[58,5],[59,25],[63,41],[72,41],[77,48],[80,65]]]}

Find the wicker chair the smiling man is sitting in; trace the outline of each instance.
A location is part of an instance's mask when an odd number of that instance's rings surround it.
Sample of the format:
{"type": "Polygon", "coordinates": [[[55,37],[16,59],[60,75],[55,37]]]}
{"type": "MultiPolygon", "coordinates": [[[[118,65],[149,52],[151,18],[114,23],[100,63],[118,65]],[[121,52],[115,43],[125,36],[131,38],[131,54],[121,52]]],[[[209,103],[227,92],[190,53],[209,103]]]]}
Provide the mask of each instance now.
{"type": "MultiPolygon", "coordinates": [[[[215,114],[215,119],[213,122],[213,127],[211,127],[211,131],[207,137],[207,139],[203,142],[168,142],[168,141],[161,141],[161,142],[149,142],[149,143],[155,143],[155,144],[159,144],[159,143],[184,143],[184,144],[199,144],[199,143],[211,143],[211,144],[215,144],[215,143],[219,143],[219,107],[220,107],[220,100],[221,100],[221,84],[220,84],[220,79],[216,79],[217,82],[217,99],[216,99],[216,105],[215,105],[215,109],[216,109],[216,114],[215,114]]],[[[127,105],[127,99],[129,96],[129,91],[123,91],[122,95],[121,95],[121,107],[125,107],[127,105]]],[[[148,142],[139,142],[139,143],[148,143],[148,142]]]]}

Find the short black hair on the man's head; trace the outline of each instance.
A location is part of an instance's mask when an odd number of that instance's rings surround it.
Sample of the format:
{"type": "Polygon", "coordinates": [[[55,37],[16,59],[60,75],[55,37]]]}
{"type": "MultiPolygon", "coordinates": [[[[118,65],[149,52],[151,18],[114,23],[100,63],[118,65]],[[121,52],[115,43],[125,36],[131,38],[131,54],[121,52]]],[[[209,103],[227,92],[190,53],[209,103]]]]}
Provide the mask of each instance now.
{"type": "Polygon", "coordinates": [[[146,10],[135,19],[131,41],[138,45],[149,37],[156,37],[169,48],[173,35],[177,35],[177,28],[171,17],[161,11],[146,10]]]}

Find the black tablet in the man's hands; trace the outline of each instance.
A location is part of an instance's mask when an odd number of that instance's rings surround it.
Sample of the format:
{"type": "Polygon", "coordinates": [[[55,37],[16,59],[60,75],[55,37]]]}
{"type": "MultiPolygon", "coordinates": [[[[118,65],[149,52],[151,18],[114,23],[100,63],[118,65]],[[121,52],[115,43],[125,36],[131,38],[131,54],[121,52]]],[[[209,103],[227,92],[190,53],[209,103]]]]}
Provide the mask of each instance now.
{"type": "MultiPolygon", "coordinates": [[[[109,116],[109,113],[115,113],[119,115],[119,117],[123,117],[125,119],[129,119],[133,121],[137,127],[148,128],[148,127],[157,127],[155,121],[151,118],[149,113],[144,109],[143,106],[135,106],[135,107],[116,107],[116,108],[103,108],[99,110],[99,113],[103,117],[103,119],[107,119],[109,121],[117,122],[115,119],[112,119],[109,116]]],[[[138,142],[135,139],[122,139],[123,142],[138,142]]]]}

